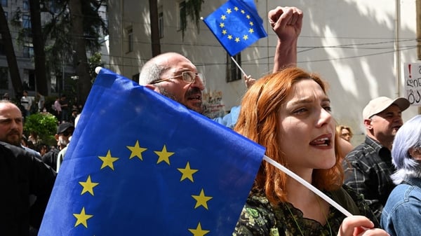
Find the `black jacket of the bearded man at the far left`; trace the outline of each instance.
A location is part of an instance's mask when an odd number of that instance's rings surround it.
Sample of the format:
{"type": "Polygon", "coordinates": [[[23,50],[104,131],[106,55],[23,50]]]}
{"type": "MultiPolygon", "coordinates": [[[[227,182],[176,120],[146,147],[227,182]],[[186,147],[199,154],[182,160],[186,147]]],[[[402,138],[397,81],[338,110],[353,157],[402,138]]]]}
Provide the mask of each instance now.
{"type": "Polygon", "coordinates": [[[39,228],[55,176],[31,153],[0,141],[0,235],[26,236],[29,225],[39,228]]]}

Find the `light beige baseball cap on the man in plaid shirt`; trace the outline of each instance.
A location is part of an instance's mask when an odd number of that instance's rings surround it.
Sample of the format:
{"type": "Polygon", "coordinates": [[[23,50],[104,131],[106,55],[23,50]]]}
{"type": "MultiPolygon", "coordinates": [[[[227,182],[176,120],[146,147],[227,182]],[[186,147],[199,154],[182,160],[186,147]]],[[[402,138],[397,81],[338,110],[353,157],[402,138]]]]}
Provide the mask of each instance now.
{"type": "Polygon", "coordinates": [[[367,106],[364,107],[363,119],[367,120],[371,116],[385,111],[389,106],[392,106],[392,104],[398,106],[401,111],[405,111],[409,107],[410,102],[405,97],[398,97],[394,100],[389,97],[377,97],[368,102],[367,106]]]}

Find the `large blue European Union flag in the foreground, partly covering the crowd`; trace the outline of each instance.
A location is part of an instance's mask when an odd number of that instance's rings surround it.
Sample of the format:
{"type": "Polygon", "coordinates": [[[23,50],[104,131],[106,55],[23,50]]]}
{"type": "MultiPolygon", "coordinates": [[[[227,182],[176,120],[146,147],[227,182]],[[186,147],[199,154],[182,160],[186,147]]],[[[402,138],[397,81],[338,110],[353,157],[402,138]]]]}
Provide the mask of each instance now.
{"type": "Polygon", "coordinates": [[[264,152],[101,69],[39,235],[231,235],[264,152]]]}

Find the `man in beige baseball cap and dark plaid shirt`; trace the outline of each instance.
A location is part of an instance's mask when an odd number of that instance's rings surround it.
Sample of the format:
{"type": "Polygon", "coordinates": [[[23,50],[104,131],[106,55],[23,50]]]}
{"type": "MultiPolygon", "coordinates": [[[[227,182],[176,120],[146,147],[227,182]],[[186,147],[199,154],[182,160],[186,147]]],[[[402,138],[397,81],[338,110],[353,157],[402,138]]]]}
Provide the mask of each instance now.
{"type": "Polygon", "coordinates": [[[390,175],[392,143],[403,125],[401,113],[409,107],[408,99],[377,97],[363,109],[366,140],[347,154],[344,161],[345,184],[363,194],[379,218],[389,193],[394,188],[390,175]]]}

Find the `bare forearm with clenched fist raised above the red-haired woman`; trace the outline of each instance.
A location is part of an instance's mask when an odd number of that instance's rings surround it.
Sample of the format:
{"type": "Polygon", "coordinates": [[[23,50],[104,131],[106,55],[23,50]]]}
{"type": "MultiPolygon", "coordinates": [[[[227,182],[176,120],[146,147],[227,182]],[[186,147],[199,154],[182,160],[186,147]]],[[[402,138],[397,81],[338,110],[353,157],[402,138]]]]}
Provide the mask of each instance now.
{"type": "Polygon", "coordinates": [[[297,64],[297,41],[302,28],[302,11],[295,7],[281,7],[267,13],[269,23],[278,36],[273,72],[297,64]]]}

